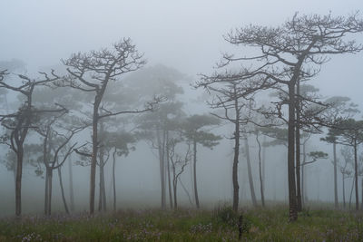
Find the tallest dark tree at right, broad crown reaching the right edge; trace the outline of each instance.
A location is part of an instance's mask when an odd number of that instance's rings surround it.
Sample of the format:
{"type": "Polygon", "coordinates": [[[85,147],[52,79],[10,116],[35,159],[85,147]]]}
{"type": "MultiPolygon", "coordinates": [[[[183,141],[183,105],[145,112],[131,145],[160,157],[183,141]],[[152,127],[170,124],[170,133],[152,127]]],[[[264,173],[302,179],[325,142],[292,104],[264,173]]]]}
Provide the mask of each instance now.
{"type": "MultiPolygon", "coordinates": [[[[225,36],[227,42],[236,46],[251,46],[260,53],[252,56],[234,56],[224,54],[220,67],[235,62],[246,63],[249,68],[240,72],[215,73],[208,78],[211,82],[250,82],[250,78],[259,77],[260,87],[254,86],[246,92],[255,92],[270,86],[287,93],[289,142],[288,142],[288,177],[289,177],[289,220],[298,218],[296,176],[295,176],[295,127],[296,127],[296,85],[300,79],[308,79],[319,73],[323,63],[329,61],[328,54],[358,53],[363,49],[348,34],[363,32],[363,21],[358,13],[348,17],[332,15],[294,15],[279,27],[249,25],[232,31],[225,36]],[[249,62],[249,63],[247,63],[249,62]]],[[[235,69],[234,69],[235,70],[235,69]]],[[[245,83],[243,82],[243,83],[245,83]]],[[[282,118],[282,105],[276,106],[275,115],[282,118]]],[[[310,126],[321,124],[321,120],[311,115],[309,123],[300,114],[299,124],[307,122],[310,126]]]]}

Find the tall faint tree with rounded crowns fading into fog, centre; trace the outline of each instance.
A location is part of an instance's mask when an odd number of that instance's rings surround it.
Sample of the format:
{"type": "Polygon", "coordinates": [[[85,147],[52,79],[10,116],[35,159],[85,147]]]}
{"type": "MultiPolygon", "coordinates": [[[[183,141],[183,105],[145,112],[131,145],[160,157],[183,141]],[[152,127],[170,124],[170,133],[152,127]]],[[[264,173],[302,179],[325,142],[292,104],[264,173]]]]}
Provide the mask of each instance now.
{"type": "Polygon", "coordinates": [[[184,91],[182,82],[185,75],[177,70],[161,64],[145,68],[127,78],[132,93],[139,100],[152,96],[159,96],[162,101],[157,110],[137,117],[138,136],[146,140],[152,149],[157,150],[161,179],[161,207],[166,208],[167,185],[169,185],[169,201],[172,208],[172,179],[169,159],[168,140],[172,138],[171,131],[175,131],[185,113],[183,103],[177,101],[177,96],[184,91]],[[166,180],[167,179],[167,180],[166,180]]]}

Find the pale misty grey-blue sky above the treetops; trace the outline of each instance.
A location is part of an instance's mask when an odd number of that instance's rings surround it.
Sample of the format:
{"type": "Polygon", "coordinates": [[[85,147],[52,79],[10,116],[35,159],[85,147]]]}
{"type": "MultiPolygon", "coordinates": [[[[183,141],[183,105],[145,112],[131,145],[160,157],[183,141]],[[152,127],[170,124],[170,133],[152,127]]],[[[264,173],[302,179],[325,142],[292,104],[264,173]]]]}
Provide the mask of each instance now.
{"type": "MultiPolygon", "coordinates": [[[[363,1],[0,0],[0,9],[0,60],[21,59],[36,70],[131,37],[149,64],[195,76],[212,72],[228,49],[222,34],[234,27],[280,24],[295,12],[348,15],[363,9],[363,1]]],[[[363,53],[332,57],[314,82],[324,95],[362,102],[363,53]]]]}

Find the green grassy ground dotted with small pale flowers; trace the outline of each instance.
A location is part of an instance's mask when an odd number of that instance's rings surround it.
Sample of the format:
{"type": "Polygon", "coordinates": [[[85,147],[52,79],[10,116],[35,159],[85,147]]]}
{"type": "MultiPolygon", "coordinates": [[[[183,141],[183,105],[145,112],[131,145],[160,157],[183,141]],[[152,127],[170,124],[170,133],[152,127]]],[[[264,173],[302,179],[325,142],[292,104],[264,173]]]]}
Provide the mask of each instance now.
{"type": "Polygon", "coordinates": [[[363,214],[311,208],[289,223],[288,208],[119,210],[0,219],[0,241],[363,241],[363,214]]]}

